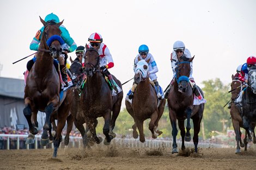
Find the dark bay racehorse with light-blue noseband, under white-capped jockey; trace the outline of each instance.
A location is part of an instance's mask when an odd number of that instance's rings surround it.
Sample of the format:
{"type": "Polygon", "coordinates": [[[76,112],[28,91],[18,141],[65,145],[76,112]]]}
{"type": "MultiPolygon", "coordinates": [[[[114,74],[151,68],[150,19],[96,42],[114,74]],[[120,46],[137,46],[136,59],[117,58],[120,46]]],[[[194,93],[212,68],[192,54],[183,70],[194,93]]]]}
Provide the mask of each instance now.
{"type": "MultiPolygon", "coordinates": [[[[176,119],[178,119],[180,134],[182,137],[181,149],[185,150],[185,141],[191,141],[190,135],[190,118],[193,119],[194,125],[194,151],[197,153],[197,145],[198,145],[198,133],[200,131],[200,122],[203,118],[204,112],[204,103],[200,105],[193,105],[193,92],[192,87],[190,85],[190,80],[188,77],[190,76],[191,66],[193,58],[186,58],[186,56],[182,56],[179,58],[178,66],[176,69],[176,75],[174,79],[174,84],[170,89],[168,95],[168,108],[169,108],[169,117],[170,123],[172,124],[172,135],[173,135],[173,149],[172,153],[178,153],[176,136],[178,134],[178,129],[176,127],[176,119]],[[187,118],[186,132],[184,127],[184,121],[187,118]],[[186,133],[186,135],[185,135],[186,133]]],[[[198,87],[200,93],[203,96],[203,91],[198,87]]]]}

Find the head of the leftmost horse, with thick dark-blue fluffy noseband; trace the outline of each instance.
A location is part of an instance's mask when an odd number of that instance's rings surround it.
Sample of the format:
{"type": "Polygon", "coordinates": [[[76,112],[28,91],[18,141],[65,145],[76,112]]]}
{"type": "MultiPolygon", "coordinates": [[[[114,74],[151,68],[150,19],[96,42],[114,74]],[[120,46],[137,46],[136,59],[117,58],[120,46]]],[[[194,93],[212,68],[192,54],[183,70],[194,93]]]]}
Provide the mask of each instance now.
{"type": "MultiPolygon", "coordinates": [[[[53,58],[58,58],[62,54],[62,45],[64,40],[61,37],[61,30],[59,26],[63,23],[56,23],[54,21],[45,22],[40,17],[40,21],[44,24],[44,32],[42,32],[42,39],[40,47],[42,49],[50,49],[50,54],[53,58]]],[[[40,49],[39,49],[40,50],[40,49]]]]}

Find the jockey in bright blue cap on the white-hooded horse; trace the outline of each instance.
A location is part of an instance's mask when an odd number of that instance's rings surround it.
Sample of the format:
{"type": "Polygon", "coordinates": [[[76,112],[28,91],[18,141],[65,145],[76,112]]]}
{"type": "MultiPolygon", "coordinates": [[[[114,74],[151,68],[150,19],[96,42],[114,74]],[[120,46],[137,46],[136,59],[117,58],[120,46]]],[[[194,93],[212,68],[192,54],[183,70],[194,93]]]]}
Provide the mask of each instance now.
{"type": "MultiPolygon", "coordinates": [[[[157,98],[161,98],[161,93],[160,93],[160,87],[159,87],[159,83],[157,81],[157,76],[156,73],[158,72],[158,68],[156,65],[156,61],[153,57],[152,54],[149,53],[149,48],[147,45],[141,45],[139,46],[139,50],[138,50],[139,54],[137,54],[135,60],[134,60],[134,66],[133,66],[133,71],[135,71],[136,65],[138,63],[139,60],[149,60],[148,64],[149,64],[149,78],[154,81],[155,86],[157,87],[157,98]]],[[[132,88],[131,88],[131,92],[129,94],[129,99],[132,99],[133,97],[133,93],[135,91],[137,87],[137,84],[133,83],[132,88]]]]}

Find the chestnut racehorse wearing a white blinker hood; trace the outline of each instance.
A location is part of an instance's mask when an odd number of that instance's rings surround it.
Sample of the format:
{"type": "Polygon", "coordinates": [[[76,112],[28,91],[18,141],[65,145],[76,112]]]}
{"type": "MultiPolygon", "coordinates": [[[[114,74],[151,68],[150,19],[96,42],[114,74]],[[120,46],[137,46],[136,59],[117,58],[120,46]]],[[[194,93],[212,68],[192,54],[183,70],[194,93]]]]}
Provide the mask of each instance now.
{"type": "MultiPolygon", "coordinates": [[[[149,59],[150,60],[150,59],[149,59]]],[[[143,122],[150,118],[149,130],[153,138],[162,134],[157,130],[159,120],[163,115],[166,99],[157,101],[156,90],[149,81],[149,61],[140,60],[137,63],[134,81],[138,86],[134,93],[132,104],[125,100],[126,110],[134,119],[135,124],[132,125],[133,137],[138,138],[137,128],[139,130],[139,141],[145,142],[143,133],[143,122]],[[157,105],[159,103],[159,106],[157,105]]]]}

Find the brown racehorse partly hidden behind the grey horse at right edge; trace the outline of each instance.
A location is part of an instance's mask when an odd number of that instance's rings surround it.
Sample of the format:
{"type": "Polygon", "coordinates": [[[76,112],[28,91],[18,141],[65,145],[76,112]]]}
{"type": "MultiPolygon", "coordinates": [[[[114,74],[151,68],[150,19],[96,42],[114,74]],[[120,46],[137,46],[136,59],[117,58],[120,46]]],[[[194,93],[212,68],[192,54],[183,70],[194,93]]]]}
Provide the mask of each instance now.
{"type": "Polygon", "coordinates": [[[236,139],[236,151],[235,153],[241,153],[240,146],[243,148],[245,144],[242,143],[241,139],[241,130],[240,127],[243,127],[242,117],[240,115],[239,109],[235,105],[235,99],[239,95],[240,91],[242,90],[242,82],[239,80],[238,77],[234,77],[232,74],[232,83],[231,86],[231,108],[230,108],[230,115],[233,124],[233,128],[235,130],[235,139],[236,139]],[[240,143],[240,146],[239,146],[240,143]]]}

